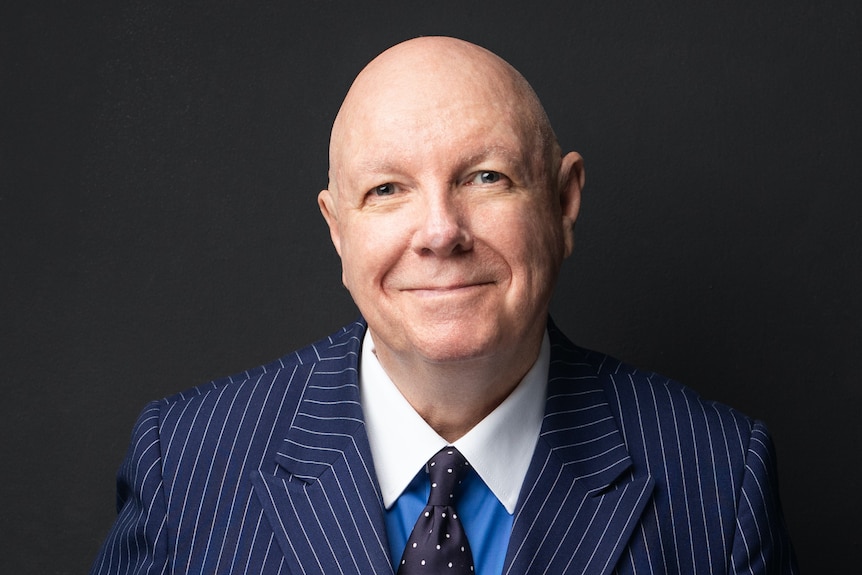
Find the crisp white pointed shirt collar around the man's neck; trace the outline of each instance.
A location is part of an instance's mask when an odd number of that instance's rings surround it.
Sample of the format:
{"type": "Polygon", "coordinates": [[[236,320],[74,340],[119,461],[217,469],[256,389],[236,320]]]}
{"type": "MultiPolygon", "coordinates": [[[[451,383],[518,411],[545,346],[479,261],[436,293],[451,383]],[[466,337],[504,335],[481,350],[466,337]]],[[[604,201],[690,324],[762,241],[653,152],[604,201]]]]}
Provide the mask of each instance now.
{"type": "MultiPolygon", "coordinates": [[[[536,447],[545,411],[551,345],[509,396],[455,447],[512,514],[536,447]]],[[[374,354],[371,331],[362,342],[359,370],[362,409],[383,503],[389,509],[425,463],[448,442],[407,402],[374,354]]]]}

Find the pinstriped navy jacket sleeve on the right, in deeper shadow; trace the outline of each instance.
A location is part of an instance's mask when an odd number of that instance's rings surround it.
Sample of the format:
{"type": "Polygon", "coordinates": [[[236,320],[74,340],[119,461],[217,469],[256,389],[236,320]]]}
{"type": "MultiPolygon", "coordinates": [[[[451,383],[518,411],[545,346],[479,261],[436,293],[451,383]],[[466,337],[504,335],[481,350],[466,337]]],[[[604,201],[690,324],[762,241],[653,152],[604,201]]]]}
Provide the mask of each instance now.
{"type": "Polygon", "coordinates": [[[756,422],[745,457],[737,502],[731,573],[799,573],[781,511],[775,450],[766,427],[756,422]]]}

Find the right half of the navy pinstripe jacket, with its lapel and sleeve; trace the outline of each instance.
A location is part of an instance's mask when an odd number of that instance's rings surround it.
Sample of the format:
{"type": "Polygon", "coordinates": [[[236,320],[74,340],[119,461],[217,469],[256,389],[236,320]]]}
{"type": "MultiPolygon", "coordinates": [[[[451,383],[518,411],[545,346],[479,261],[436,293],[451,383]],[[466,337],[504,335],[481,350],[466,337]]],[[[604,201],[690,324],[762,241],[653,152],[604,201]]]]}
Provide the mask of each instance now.
{"type": "Polygon", "coordinates": [[[762,423],[549,332],[506,573],[798,572],[762,423]]]}

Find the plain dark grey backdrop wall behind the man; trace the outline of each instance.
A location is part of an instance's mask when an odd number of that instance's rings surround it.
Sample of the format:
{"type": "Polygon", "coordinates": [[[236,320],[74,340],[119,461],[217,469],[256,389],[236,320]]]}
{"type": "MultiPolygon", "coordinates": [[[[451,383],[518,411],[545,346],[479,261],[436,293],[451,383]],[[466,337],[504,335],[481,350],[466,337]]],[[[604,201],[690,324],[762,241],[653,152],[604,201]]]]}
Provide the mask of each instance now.
{"type": "Polygon", "coordinates": [[[858,1],[38,4],[0,14],[4,573],[86,571],[147,400],[354,318],[328,130],[421,34],[585,157],[557,322],[764,419],[803,568],[858,568],[858,1]]]}

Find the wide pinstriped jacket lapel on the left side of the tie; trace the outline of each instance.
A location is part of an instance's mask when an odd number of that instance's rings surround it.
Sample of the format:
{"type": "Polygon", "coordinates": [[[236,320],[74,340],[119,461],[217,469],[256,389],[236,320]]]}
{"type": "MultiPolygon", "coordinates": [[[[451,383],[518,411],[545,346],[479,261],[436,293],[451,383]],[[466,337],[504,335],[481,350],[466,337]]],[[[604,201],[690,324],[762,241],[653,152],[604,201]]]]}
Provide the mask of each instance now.
{"type": "Polygon", "coordinates": [[[307,383],[275,456],[276,472],[252,478],[290,573],[392,574],[359,405],[364,327],[300,358],[307,383]]]}

